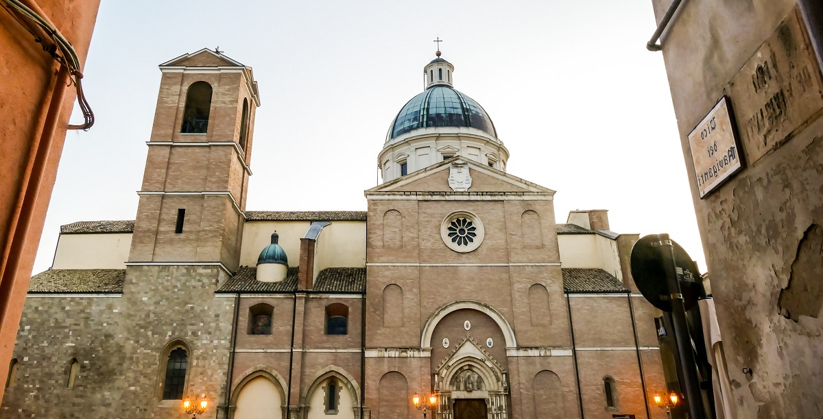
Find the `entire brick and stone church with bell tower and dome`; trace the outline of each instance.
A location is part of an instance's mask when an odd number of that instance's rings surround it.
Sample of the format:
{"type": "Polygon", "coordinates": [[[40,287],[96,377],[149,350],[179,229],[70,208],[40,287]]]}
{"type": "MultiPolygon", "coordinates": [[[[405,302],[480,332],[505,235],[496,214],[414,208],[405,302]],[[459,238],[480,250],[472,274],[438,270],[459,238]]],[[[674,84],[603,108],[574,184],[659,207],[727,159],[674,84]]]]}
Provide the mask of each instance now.
{"type": "Polygon", "coordinates": [[[439,55],[365,211],[246,210],[251,68],[161,64],[136,218],[61,228],[0,417],[666,417],[637,235],[556,223],[439,55]]]}

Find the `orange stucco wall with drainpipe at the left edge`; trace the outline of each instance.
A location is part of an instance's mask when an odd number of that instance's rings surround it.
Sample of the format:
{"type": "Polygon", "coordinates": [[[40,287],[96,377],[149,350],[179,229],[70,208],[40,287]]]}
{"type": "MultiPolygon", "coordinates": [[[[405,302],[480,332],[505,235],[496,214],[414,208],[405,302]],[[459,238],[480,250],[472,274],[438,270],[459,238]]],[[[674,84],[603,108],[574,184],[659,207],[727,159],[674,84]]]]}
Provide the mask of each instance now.
{"type": "MultiPolygon", "coordinates": [[[[100,0],[23,2],[40,9],[72,43],[81,63],[86,61],[100,0]]],[[[0,12],[0,45],[0,376],[5,377],[76,92],[63,89],[67,73],[6,11],[0,12]]]]}

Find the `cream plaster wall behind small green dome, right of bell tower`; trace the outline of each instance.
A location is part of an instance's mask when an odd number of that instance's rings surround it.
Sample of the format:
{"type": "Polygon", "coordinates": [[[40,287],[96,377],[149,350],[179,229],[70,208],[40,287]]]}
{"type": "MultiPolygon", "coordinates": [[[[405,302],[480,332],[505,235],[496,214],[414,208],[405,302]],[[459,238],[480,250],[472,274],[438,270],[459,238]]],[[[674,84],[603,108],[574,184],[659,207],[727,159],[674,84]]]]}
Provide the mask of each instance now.
{"type": "Polygon", "coordinates": [[[280,235],[278,243],[286,251],[289,266],[300,265],[300,238],[309,230],[308,221],[247,221],[243,226],[240,265],[255,266],[263,247],[272,242],[272,233],[280,235]]]}

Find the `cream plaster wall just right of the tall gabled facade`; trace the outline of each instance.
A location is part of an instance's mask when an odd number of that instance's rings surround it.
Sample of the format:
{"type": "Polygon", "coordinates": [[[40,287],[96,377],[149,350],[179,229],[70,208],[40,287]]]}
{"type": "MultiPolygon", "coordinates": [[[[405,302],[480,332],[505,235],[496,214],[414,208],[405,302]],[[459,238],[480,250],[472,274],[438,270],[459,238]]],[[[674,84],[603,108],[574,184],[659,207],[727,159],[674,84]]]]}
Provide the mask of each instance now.
{"type": "Polygon", "coordinates": [[[599,268],[623,280],[617,242],[598,234],[558,234],[563,268],[599,268]]]}

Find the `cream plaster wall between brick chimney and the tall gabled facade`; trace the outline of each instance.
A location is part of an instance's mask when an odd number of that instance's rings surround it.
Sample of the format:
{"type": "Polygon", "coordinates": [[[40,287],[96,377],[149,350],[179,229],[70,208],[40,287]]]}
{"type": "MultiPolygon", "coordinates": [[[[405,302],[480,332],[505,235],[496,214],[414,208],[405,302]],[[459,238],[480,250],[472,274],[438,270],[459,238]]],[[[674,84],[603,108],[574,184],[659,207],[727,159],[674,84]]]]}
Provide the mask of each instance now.
{"type": "Polygon", "coordinates": [[[332,221],[315,248],[315,274],[331,267],[365,266],[365,221],[332,221]]]}

